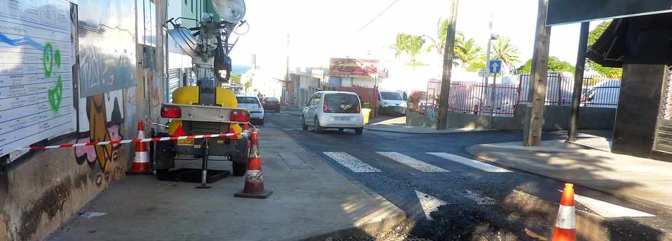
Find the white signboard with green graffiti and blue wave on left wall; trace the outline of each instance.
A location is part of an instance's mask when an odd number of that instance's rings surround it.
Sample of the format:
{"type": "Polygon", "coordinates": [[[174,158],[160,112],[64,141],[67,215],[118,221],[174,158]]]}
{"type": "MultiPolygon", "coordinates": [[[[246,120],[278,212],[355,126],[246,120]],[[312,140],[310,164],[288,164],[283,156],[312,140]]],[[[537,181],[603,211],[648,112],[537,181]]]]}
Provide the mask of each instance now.
{"type": "Polygon", "coordinates": [[[0,1],[0,156],[73,121],[70,2],[0,1]]]}

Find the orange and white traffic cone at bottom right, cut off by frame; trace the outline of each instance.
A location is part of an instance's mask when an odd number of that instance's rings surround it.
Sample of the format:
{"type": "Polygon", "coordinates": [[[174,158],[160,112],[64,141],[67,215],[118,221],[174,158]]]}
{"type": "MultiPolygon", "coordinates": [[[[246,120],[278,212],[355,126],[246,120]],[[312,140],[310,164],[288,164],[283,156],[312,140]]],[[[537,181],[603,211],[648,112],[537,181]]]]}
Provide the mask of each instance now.
{"type": "Polygon", "coordinates": [[[576,216],[574,210],[574,184],[565,183],[557,210],[552,241],[576,241],[576,216]]]}

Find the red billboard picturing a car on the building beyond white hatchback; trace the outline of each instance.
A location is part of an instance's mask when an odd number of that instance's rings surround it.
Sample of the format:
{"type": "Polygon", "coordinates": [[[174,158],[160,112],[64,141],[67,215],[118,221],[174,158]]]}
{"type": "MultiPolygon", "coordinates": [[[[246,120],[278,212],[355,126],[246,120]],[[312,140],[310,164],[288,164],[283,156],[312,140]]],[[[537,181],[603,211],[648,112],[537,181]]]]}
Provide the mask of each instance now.
{"type": "Polygon", "coordinates": [[[378,60],[331,58],[329,75],[341,77],[377,77],[378,60]]]}

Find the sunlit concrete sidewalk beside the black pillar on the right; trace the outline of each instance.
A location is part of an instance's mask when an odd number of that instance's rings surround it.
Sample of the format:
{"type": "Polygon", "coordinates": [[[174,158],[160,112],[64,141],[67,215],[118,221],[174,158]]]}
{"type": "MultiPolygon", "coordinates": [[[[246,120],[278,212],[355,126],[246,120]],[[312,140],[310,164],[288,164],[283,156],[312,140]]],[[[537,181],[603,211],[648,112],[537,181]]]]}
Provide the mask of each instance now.
{"type": "Polygon", "coordinates": [[[562,140],[544,141],[540,147],[523,147],[521,142],[479,144],[466,151],[481,160],[653,204],[672,213],[669,162],[589,149],[562,140]]]}

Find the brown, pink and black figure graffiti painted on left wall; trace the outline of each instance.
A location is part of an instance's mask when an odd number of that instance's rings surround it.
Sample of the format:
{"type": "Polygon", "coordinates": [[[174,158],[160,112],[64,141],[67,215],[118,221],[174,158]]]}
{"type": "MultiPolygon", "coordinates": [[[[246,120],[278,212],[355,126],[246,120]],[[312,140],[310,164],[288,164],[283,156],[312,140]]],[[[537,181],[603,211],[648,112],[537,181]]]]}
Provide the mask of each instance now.
{"type": "MultiPolygon", "coordinates": [[[[122,140],[123,93],[115,90],[107,93],[95,94],[80,99],[80,133],[77,143],[103,142],[122,140]],[[85,114],[85,116],[82,116],[85,114]],[[84,131],[87,130],[87,131],[84,131]]],[[[103,181],[110,181],[115,172],[121,171],[119,157],[120,145],[84,146],[75,148],[77,164],[88,164],[96,172],[95,183],[101,185],[103,181]]]]}

